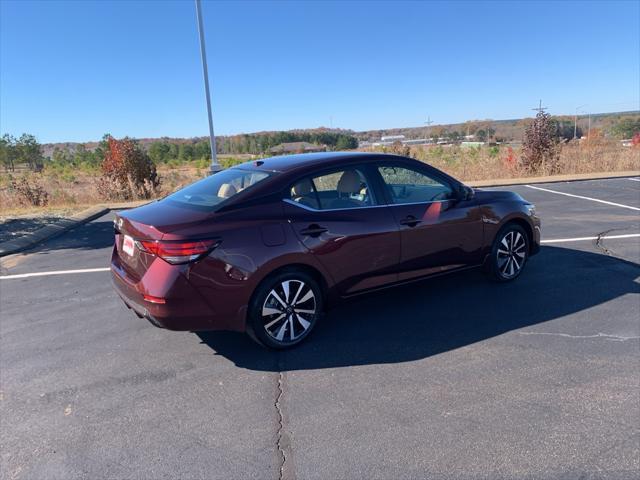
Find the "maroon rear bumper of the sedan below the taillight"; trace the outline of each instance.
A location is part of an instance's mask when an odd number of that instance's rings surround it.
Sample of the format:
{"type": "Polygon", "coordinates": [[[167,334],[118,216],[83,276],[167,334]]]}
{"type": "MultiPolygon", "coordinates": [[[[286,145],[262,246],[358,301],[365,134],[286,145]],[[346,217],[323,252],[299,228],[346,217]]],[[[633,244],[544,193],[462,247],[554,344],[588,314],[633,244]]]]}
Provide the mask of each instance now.
{"type": "MultiPolygon", "coordinates": [[[[162,260],[159,260],[162,262],[162,260]]],[[[225,316],[185,278],[177,266],[162,266],[169,274],[159,275],[150,269],[141,280],[135,281],[120,265],[117,253],[111,262],[113,286],[125,303],[141,318],[169,330],[235,330],[244,331],[244,319],[225,316]]],[[[219,299],[224,296],[220,295],[219,299]]]]}

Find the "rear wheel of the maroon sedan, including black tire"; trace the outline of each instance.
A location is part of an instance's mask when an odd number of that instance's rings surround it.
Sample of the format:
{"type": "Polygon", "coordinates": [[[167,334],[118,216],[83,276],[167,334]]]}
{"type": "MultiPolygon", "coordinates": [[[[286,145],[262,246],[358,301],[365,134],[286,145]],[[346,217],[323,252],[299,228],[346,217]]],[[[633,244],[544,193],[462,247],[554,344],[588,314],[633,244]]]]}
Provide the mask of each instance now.
{"type": "Polygon", "coordinates": [[[323,306],[322,289],[311,275],[297,270],[273,275],[249,304],[249,335],[269,348],[293,347],[311,333],[323,306]]]}

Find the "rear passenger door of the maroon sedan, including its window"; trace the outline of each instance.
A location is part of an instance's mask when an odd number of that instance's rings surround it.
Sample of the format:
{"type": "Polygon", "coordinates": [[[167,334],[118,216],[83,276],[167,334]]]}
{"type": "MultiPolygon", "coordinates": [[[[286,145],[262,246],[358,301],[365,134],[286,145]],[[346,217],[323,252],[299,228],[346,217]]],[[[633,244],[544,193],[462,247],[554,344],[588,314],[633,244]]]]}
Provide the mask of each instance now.
{"type": "Polygon", "coordinates": [[[397,280],[399,229],[370,176],[366,166],[319,172],[298,179],[284,200],[298,239],[342,295],[397,280]]]}

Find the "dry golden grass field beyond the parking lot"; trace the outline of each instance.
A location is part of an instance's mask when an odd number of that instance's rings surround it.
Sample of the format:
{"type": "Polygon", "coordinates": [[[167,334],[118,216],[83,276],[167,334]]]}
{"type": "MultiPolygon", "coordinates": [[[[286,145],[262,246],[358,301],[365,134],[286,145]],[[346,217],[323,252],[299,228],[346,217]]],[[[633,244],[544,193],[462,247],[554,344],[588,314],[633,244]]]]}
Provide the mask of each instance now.
{"type": "MultiPolygon", "coordinates": [[[[400,147],[402,148],[402,147],[400,147]]],[[[393,151],[393,148],[384,151],[393,151]]],[[[541,176],[548,172],[525,172],[519,167],[519,151],[508,147],[463,148],[411,147],[409,152],[396,151],[427,162],[463,181],[541,176]]],[[[622,147],[618,142],[597,139],[591,143],[568,143],[562,146],[559,174],[619,172],[640,168],[640,148],[622,147]]],[[[161,180],[158,196],[203,178],[207,168],[196,166],[158,167],[161,180]]],[[[34,207],[10,188],[11,176],[0,174],[0,222],[28,215],[65,216],[105,201],[97,189],[98,170],[45,169],[43,173],[16,172],[14,179],[26,176],[48,194],[44,207],[34,207]]]]}

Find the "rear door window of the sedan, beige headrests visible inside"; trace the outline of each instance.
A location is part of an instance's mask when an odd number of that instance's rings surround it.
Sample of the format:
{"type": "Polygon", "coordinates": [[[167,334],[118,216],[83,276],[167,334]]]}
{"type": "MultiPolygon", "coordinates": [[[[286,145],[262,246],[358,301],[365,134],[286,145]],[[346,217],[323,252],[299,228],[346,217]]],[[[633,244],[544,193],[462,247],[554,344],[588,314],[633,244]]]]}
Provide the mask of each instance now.
{"type": "Polygon", "coordinates": [[[291,187],[290,198],[316,210],[375,205],[369,182],[364,173],[357,168],[305,178],[291,187]]]}

